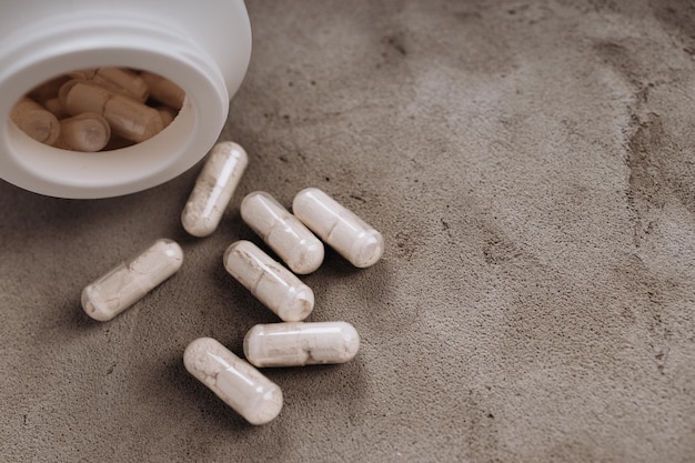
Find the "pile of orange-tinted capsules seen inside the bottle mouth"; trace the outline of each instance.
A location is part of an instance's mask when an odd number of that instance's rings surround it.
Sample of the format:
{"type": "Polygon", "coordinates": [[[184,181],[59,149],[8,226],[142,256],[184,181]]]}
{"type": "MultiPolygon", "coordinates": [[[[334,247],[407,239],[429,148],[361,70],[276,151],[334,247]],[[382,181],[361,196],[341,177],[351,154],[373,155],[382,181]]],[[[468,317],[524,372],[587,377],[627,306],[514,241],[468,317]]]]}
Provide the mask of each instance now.
{"type": "Polygon", "coordinates": [[[128,68],[83,69],[51,79],[21,98],[10,119],[51,147],[109,151],[145,141],[177,117],[184,91],[159,74],[128,68]]]}

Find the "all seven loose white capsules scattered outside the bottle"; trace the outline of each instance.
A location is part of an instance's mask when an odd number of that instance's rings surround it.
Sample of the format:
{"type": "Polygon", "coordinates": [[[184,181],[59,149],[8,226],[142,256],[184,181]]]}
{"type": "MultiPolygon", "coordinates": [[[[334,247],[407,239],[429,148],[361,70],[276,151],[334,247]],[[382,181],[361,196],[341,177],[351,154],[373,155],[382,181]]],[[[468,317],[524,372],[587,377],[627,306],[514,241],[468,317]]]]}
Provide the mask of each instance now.
{"type": "MultiPolygon", "coordinates": [[[[187,232],[199,238],[214,232],[246,164],[246,153],[236,143],[221,142],[212,149],[181,213],[187,232]]],[[[183,353],[185,369],[252,424],[273,420],[283,402],[281,389],[256,368],[343,363],[360,348],[360,335],[350,323],[302,322],[314,308],[314,294],[295,274],[319,269],[322,241],[357,268],[373,265],[384,251],[381,233],[319,189],[300,191],[292,211],[262,191],[241,203],[242,220],[290,270],[245,240],[230,244],[223,254],[226,271],[282,322],[249,330],[243,340],[245,360],[211,338],[194,340],[183,353]]],[[[82,308],[92,319],[111,320],[175,273],[182,262],[179,244],[158,240],[84,288],[82,308]]]]}

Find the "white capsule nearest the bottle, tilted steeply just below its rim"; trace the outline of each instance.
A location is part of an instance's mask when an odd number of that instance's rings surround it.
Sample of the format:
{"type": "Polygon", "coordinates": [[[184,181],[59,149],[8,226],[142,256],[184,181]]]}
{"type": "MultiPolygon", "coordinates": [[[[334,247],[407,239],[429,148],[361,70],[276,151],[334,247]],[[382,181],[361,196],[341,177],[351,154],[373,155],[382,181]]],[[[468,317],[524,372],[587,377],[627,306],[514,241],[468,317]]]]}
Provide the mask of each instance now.
{"type": "Polygon", "coordinates": [[[246,152],[236,143],[212,148],[181,213],[187,232],[201,238],[215,231],[248,163],[246,152]]]}

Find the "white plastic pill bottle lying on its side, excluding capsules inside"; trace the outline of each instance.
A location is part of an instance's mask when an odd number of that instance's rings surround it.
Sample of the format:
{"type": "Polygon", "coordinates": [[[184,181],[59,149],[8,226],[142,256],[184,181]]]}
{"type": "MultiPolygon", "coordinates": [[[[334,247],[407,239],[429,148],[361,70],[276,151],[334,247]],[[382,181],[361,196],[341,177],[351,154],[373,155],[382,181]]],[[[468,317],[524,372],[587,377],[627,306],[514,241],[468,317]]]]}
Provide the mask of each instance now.
{"type": "Polygon", "coordinates": [[[163,183],[218,140],[250,57],[243,0],[0,0],[0,177],[59,198],[115,197],[163,183]],[[11,121],[30,89],[107,66],[177,83],[185,92],[178,117],[149,140],[97,153],[40,143],[11,121]]]}

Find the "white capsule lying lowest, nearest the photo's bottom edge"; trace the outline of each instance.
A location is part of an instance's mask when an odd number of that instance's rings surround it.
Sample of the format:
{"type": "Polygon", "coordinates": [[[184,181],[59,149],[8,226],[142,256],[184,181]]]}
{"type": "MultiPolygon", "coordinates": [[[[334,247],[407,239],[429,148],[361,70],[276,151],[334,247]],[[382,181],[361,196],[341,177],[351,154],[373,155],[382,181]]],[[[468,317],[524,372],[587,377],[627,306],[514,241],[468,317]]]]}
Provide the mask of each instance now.
{"type": "Polygon", "coordinates": [[[251,424],[265,424],[282,410],[280,387],[211,338],[191,342],[183,364],[251,424]]]}

